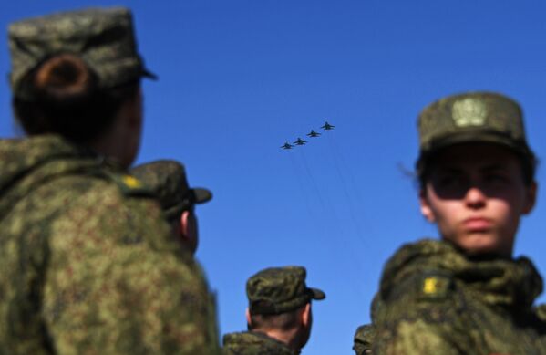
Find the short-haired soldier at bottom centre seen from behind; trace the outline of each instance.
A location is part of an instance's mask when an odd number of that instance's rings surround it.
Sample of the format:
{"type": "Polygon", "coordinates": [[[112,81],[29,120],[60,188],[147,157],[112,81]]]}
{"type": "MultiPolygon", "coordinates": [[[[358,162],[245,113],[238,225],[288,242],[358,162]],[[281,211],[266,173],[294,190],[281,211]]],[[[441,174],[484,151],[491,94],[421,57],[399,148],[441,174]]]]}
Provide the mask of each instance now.
{"type": "Polygon", "coordinates": [[[302,266],[271,267],[246,283],[249,331],[226,334],[224,355],[299,354],[311,335],[311,300],[325,293],[305,285],[302,266]]]}

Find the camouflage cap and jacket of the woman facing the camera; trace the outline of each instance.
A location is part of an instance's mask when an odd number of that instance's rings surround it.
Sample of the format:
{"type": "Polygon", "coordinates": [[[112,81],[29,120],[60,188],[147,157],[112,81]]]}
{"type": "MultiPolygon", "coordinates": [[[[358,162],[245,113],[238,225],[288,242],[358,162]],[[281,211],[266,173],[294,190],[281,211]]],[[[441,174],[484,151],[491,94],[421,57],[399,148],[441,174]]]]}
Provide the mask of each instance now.
{"type": "MultiPolygon", "coordinates": [[[[442,99],[419,123],[418,169],[439,147],[470,141],[504,145],[532,164],[520,108],[498,94],[442,99]]],[[[468,256],[436,240],[404,245],[384,268],[372,352],[546,354],[546,321],[532,307],[541,291],[541,276],[526,257],[468,256]]]]}

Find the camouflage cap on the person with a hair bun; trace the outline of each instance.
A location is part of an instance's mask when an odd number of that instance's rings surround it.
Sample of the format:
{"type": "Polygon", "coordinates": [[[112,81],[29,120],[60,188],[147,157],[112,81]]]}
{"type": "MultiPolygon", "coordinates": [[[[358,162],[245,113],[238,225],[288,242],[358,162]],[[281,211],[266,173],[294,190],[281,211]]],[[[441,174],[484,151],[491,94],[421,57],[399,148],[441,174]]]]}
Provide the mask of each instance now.
{"type": "Polygon", "coordinates": [[[25,97],[26,74],[48,57],[69,53],[82,58],[98,77],[98,87],[114,88],[140,77],[155,78],[137,52],[131,12],[123,7],[89,8],[12,23],[10,82],[25,97]]]}

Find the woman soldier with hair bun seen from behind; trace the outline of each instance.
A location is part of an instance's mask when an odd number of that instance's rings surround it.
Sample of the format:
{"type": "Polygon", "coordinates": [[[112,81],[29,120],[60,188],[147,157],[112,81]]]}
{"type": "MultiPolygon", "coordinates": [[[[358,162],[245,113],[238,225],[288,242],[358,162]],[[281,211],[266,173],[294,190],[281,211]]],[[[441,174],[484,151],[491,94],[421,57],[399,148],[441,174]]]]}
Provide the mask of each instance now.
{"type": "Polygon", "coordinates": [[[211,297],[127,174],[143,65],[126,8],[9,26],[15,117],[0,141],[0,353],[216,354],[211,297]]]}

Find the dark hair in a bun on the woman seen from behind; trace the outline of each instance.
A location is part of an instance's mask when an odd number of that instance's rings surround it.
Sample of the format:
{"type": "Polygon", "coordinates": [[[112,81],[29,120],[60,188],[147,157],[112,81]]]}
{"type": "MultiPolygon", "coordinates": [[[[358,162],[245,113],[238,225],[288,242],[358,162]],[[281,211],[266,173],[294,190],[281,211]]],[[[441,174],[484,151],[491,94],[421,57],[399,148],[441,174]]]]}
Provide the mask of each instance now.
{"type": "Polygon", "coordinates": [[[22,88],[28,95],[15,94],[13,105],[27,134],[58,133],[86,142],[105,131],[121,104],[135,97],[139,80],[100,89],[97,76],[81,58],[59,54],[26,74],[22,88]]]}

